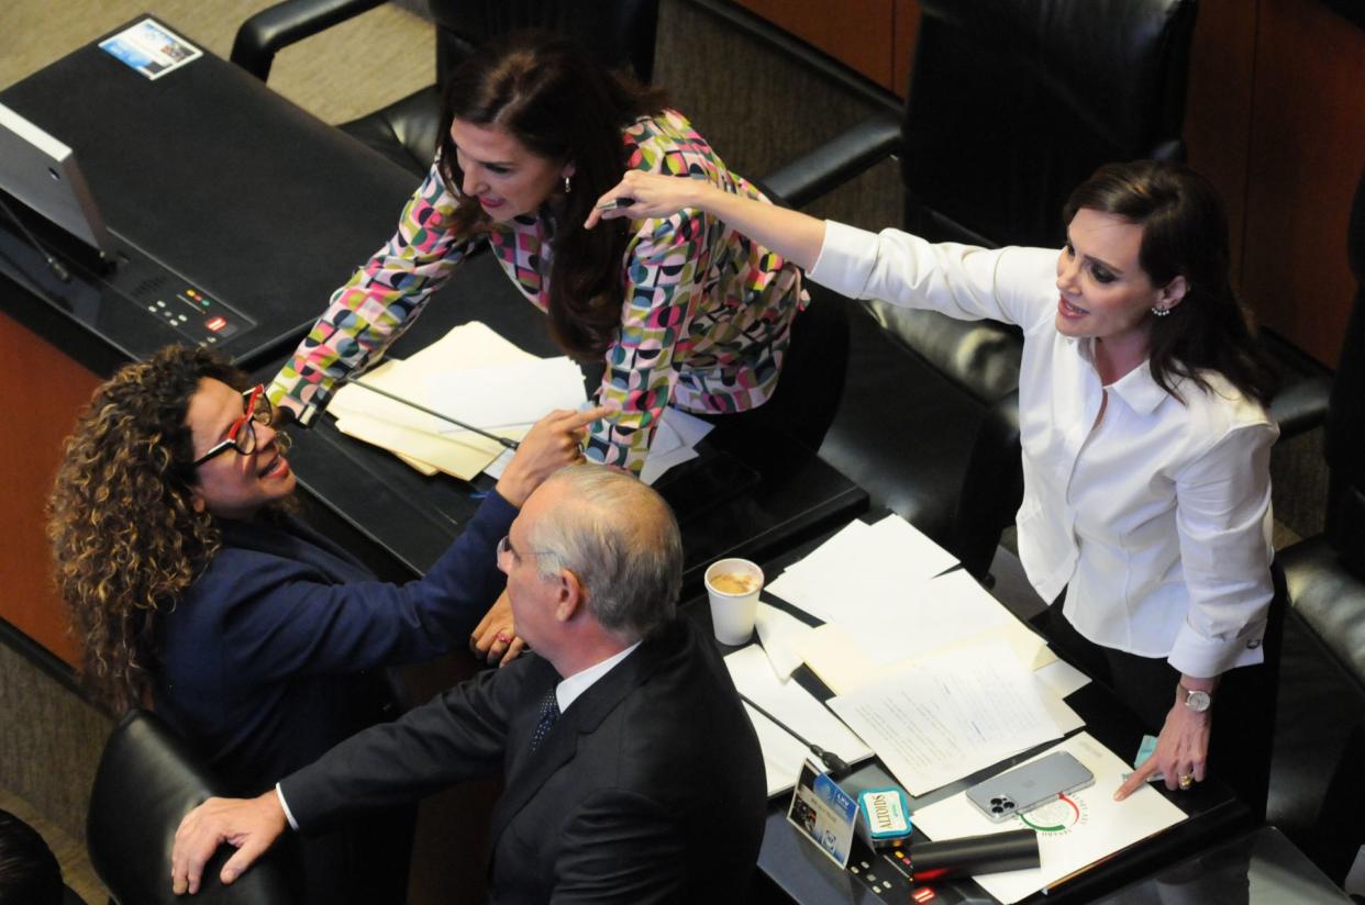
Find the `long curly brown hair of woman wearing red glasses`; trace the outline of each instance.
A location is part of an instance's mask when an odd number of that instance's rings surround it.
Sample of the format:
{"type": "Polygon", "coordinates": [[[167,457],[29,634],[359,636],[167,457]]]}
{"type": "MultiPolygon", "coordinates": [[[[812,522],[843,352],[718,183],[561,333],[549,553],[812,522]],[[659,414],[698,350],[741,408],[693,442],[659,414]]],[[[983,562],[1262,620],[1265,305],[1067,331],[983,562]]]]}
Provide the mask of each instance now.
{"type": "Polygon", "coordinates": [[[186,347],[120,369],[81,412],[49,500],[57,591],[85,647],[82,677],[115,713],[147,703],[160,617],[221,543],[192,494],[186,412],[205,378],[247,382],[222,358],[186,347]]]}

